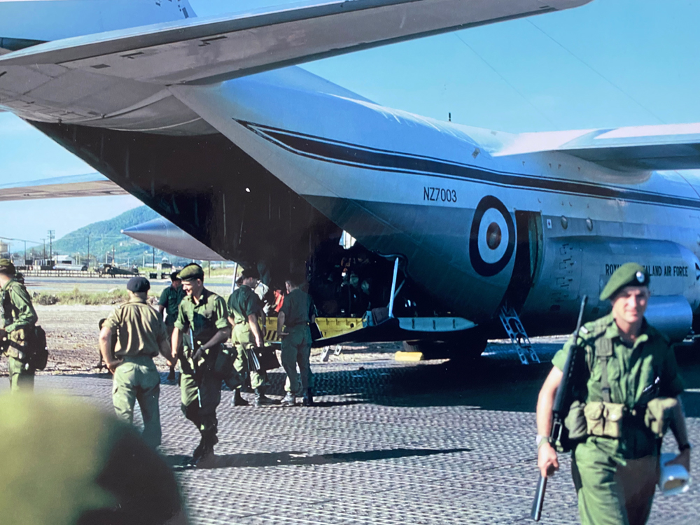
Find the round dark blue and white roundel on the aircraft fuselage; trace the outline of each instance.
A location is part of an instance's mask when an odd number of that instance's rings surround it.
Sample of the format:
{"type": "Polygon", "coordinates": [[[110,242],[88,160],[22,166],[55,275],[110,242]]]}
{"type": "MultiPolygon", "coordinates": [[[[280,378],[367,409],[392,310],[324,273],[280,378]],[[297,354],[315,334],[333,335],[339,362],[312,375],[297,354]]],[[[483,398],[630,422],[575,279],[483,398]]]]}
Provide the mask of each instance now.
{"type": "Polygon", "coordinates": [[[472,220],[469,260],[477,274],[490,277],[510,261],[515,249],[515,225],[507,208],[493,195],[486,195],[472,220]]]}

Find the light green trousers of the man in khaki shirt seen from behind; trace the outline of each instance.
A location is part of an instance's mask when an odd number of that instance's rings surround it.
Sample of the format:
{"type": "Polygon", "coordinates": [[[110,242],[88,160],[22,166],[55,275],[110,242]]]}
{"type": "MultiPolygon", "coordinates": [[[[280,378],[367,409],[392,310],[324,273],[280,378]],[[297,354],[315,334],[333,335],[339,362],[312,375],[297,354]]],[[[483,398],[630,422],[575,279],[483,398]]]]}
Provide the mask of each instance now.
{"type": "Polygon", "coordinates": [[[149,356],[123,358],[114,371],[112,402],[117,417],[134,423],[134,405],[138,401],[144,416],[144,441],[152,448],[160,444],[160,374],[149,356]]]}

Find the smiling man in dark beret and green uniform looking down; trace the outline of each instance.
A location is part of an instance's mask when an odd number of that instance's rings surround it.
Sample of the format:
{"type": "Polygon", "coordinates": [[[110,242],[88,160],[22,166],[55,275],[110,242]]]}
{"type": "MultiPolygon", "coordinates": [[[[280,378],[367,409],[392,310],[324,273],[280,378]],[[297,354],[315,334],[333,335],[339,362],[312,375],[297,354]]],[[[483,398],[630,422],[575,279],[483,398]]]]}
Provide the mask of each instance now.
{"type": "Polygon", "coordinates": [[[192,463],[197,465],[214,454],[218,443],[216,407],[221,401],[221,377],[214,373],[211,363],[222,351],[231,328],[226,302],[204,288],[204,270],[200,265],[187,265],[179,277],[187,297],[180,303],[175,321],[172,357],[178,355],[181,338],[190,339],[181,361],[180,393],[183,414],[202,435],[192,454],[192,463]]]}

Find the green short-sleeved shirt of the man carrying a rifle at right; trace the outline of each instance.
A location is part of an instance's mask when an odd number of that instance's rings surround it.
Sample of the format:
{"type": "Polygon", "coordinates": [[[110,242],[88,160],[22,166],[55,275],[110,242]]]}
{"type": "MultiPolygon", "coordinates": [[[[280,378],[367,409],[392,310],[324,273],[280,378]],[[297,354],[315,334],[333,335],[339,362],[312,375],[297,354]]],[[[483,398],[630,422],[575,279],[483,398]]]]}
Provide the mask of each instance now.
{"type": "MultiPolygon", "coordinates": [[[[683,384],[678,374],[678,364],[666,336],[645,319],[639,337],[631,347],[627,346],[620,339],[617,324],[612,314],[609,314],[586,323],[579,335],[579,342],[586,349],[586,360],[590,368],[590,374],[587,374],[585,402],[603,400],[601,361],[595,357],[595,342],[603,337],[612,339],[613,355],[608,358],[611,402],[624,403],[629,409],[635,407],[645,388],[651,387],[657,377],[659,377],[660,397],[674,398],[682,393],[683,384]]],[[[559,370],[563,369],[572,344],[573,336],[552,359],[552,364],[559,370]]],[[[638,458],[656,454],[655,439],[641,423],[638,426],[631,425],[625,428],[625,435],[621,440],[594,436],[589,436],[588,440],[611,456],[638,458]]]]}

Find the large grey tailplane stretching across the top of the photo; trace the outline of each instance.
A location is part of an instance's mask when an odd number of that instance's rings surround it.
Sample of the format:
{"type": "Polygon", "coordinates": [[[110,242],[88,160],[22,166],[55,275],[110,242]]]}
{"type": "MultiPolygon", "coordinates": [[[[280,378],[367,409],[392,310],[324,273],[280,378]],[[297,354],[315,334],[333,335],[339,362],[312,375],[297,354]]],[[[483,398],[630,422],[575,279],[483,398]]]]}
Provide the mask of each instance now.
{"type": "Polygon", "coordinates": [[[10,73],[0,90],[8,83],[27,85],[38,71],[53,78],[78,70],[157,85],[213,83],[588,1],[328,1],[168,22],[10,52],[0,57],[0,77],[10,73]]]}

